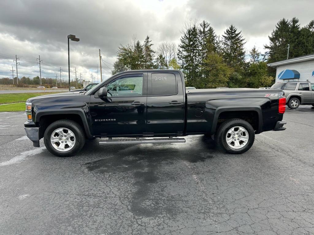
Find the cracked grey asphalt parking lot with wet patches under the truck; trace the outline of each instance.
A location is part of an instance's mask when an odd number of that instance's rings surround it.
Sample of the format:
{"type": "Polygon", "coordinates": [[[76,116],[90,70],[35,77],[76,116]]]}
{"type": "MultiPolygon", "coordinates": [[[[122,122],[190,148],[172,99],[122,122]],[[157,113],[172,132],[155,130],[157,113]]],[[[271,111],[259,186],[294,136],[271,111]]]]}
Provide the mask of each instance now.
{"type": "Polygon", "coordinates": [[[313,234],[314,107],[241,155],[186,144],[99,146],[70,158],[0,113],[0,234],[313,234]]]}

